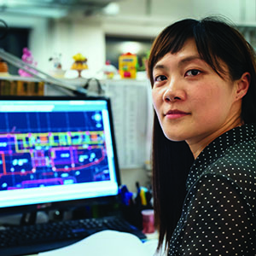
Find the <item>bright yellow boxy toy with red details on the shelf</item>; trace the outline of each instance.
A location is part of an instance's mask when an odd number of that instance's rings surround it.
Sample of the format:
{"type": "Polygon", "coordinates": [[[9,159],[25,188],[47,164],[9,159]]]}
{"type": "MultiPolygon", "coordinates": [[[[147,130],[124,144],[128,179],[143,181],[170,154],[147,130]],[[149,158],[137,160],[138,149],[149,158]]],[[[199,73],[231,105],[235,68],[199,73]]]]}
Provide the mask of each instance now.
{"type": "Polygon", "coordinates": [[[122,79],[136,79],[137,55],[130,52],[119,56],[119,73],[122,79]]]}

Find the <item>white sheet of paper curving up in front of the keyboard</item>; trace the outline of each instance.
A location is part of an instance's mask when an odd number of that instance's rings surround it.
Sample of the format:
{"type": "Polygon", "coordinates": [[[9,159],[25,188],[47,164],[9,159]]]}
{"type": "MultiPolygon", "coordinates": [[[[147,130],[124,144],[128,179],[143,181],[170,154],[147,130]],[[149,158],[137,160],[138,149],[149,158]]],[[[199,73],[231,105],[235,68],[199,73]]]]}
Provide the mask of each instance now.
{"type": "MultiPolygon", "coordinates": [[[[149,243],[148,243],[149,245],[149,243]]],[[[70,246],[62,247],[38,256],[153,256],[156,248],[147,247],[137,236],[125,232],[104,230],[88,236],[70,246]]]]}

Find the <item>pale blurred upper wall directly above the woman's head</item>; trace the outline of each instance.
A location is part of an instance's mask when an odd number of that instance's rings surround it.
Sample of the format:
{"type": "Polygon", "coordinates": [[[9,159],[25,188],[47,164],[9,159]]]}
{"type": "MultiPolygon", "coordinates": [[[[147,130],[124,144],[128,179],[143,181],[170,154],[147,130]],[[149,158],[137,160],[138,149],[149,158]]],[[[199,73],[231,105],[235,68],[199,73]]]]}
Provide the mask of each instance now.
{"type": "Polygon", "coordinates": [[[253,0],[130,0],[119,5],[119,15],[104,19],[104,32],[155,37],[176,20],[206,15],[223,15],[236,24],[256,26],[253,0]],[[149,8],[147,3],[151,3],[149,8]]]}

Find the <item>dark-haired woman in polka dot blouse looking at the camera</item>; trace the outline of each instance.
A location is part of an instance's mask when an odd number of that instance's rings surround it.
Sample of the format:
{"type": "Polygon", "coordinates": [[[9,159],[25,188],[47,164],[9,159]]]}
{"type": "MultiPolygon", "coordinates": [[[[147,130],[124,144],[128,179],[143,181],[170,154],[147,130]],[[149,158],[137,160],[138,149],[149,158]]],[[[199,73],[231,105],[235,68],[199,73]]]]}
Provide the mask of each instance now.
{"type": "Polygon", "coordinates": [[[154,212],[169,255],[256,253],[254,58],[236,29],[209,17],[154,41],[154,212]]]}

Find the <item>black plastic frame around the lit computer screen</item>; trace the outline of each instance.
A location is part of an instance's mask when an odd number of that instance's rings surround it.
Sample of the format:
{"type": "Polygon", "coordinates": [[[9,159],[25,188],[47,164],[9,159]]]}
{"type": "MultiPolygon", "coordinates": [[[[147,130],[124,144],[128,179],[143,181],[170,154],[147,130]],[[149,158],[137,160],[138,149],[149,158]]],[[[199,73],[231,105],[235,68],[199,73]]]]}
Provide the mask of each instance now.
{"type": "MultiPolygon", "coordinates": [[[[111,108],[110,98],[107,96],[0,96],[1,101],[106,101],[108,106],[109,114],[109,125],[113,143],[113,161],[115,166],[115,175],[118,183],[118,187],[121,184],[120,173],[119,173],[119,161],[117,148],[115,143],[115,135],[113,128],[113,112],[111,108]]],[[[50,211],[50,210],[61,210],[69,211],[77,207],[82,206],[91,206],[91,205],[102,205],[102,204],[113,204],[119,201],[119,195],[107,195],[100,197],[92,197],[86,199],[76,199],[76,200],[67,200],[67,201],[49,201],[46,203],[36,203],[23,206],[14,206],[14,207],[1,207],[0,208],[0,217],[13,214],[24,214],[29,212],[38,212],[38,211],[50,211]]]]}

